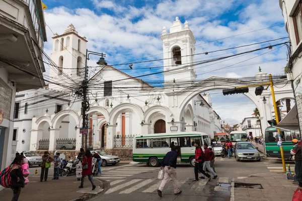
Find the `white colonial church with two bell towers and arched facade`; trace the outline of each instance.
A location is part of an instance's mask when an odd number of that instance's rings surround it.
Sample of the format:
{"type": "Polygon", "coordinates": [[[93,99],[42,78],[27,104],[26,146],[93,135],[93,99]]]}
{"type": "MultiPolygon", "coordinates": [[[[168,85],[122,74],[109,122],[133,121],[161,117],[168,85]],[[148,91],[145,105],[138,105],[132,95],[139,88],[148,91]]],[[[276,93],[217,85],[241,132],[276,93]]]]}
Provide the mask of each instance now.
{"type": "MultiPolygon", "coordinates": [[[[81,97],[70,88],[81,85],[86,58],[85,37],[73,25],[55,34],[47,87],[18,92],[14,135],[17,151],[80,149],[81,97]],[[56,84],[54,84],[56,83],[56,84]],[[72,86],[66,88],[64,86],[72,86]]],[[[196,43],[188,23],[176,18],[170,31],[163,28],[164,87],[109,65],[89,80],[88,146],[93,149],[131,147],[132,136],[152,133],[221,132],[210,94],[190,90],[196,79],[196,43]]]]}

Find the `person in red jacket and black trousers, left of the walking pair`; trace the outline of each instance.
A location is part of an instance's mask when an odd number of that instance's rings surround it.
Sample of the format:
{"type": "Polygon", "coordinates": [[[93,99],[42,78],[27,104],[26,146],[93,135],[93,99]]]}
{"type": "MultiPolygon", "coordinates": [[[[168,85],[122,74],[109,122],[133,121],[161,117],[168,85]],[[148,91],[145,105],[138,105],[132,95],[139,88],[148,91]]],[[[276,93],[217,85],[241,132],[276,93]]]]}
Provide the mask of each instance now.
{"type": "MultiPolygon", "coordinates": [[[[210,181],[211,175],[209,175],[203,170],[204,154],[202,152],[201,147],[199,146],[199,142],[195,142],[194,146],[195,146],[195,167],[194,167],[195,179],[193,181],[199,180],[198,171],[201,172],[203,175],[206,175],[210,181]]],[[[204,179],[204,177],[200,177],[200,178],[204,179]]]]}

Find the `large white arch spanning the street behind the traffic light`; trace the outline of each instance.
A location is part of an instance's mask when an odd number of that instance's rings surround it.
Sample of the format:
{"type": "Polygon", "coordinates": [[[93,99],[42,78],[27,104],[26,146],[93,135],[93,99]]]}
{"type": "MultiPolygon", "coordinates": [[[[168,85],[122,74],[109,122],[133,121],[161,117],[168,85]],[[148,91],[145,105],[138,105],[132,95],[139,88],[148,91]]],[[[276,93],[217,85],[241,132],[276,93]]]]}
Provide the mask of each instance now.
{"type": "MultiPolygon", "coordinates": [[[[213,89],[225,89],[225,88],[234,88],[237,86],[243,86],[243,85],[252,85],[255,84],[255,82],[252,81],[238,81],[238,79],[236,78],[225,78],[225,77],[219,77],[219,76],[211,76],[205,80],[202,80],[200,82],[194,83],[192,86],[188,87],[187,89],[184,89],[182,91],[180,91],[182,93],[182,96],[185,97],[183,100],[180,100],[181,104],[180,104],[180,119],[182,114],[185,111],[186,106],[189,104],[189,102],[198,94],[205,92],[205,91],[209,91],[209,90],[213,90],[213,89]],[[217,85],[215,86],[213,85],[204,85],[204,83],[206,82],[214,82],[217,81],[219,83],[225,83],[224,85],[217,85]]],[[[261,103],[259,102],[259,98],[260,97],[256,97],[255,93],[254,93],[254,89],[250,88],[248,93],[243,93],[245,96],[247,96],[250,100],[252,100],[252,102],[255,104],[255,106],[257,108],[261,108],[261,103]]]]}

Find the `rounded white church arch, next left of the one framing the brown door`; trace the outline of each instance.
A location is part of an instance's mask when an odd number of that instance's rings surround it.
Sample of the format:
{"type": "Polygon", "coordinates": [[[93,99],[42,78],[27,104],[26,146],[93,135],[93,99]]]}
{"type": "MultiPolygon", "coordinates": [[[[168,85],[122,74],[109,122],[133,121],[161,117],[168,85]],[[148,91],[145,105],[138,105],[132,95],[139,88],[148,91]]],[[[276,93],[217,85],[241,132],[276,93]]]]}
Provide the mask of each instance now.
{"type": "Polygon", "coordinates": [[[116,119],[122,113],[124,110],[134,110],[137,115],[139,116],[137,119],[137,123],[141,122],[143,120],[143,112],[140,106],[136,104],[129,104],[129,103],[123,103],[119,104],[118,106],[114,107],[113,110],[109,113],[109,123],[111,125],[116,124],[116,119]]]}

